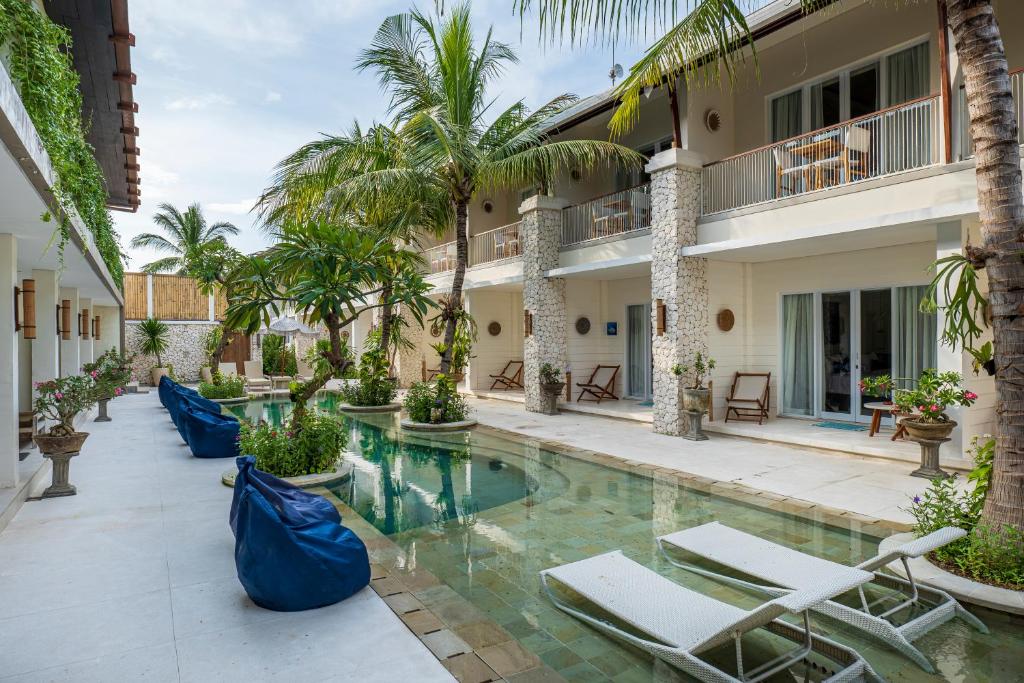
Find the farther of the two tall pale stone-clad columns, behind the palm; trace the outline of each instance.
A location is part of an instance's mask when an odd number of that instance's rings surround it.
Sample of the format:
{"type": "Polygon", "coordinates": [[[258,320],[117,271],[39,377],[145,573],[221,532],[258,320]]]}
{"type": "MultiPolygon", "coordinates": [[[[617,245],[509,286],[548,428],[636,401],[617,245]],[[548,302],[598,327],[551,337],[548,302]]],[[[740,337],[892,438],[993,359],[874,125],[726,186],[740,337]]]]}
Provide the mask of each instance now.
{"type": "Polygon", "coordinates": [[[541,412],[541,366],[550,362],[560,371],[568,365],[565,338],[565,281],[546,278],[558,267],[564,200],[531,197],[519,207],[522,223],[522,305],[532,315],[532,334],[523,340],[523,385],[526,410],[541,412]]]}

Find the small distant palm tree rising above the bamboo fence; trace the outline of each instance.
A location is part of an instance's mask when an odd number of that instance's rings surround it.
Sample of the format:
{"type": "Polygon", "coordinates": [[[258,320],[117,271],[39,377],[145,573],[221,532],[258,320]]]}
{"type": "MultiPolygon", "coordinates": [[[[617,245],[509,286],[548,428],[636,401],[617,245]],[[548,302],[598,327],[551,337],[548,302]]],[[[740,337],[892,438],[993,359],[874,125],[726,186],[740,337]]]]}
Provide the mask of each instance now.
{"type": "Polygon", "coordinates": [[[238,234],[239,228],[226,221],[208,225],[198,203],[188,205],[184,213],[171,204],[161,204],[153,222],[164,234],[142,232],[132,238],[133,249],[153,249],[170,254],[142,266],[143,272],[170,272],[188,274],[191,264],[215,243],[226,244],[227,237],[238,234]]]}

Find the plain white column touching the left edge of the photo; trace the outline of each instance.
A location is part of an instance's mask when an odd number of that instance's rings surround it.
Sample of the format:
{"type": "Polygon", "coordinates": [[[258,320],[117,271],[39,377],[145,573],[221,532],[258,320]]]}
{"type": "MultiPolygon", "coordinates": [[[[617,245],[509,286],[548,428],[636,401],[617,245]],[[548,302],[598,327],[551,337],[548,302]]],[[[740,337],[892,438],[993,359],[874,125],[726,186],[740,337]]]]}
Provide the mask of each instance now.
{"type": "Polygon", "coordinates": [[[17,239],[0,234],[0,488],[17,485],[19,335],[14,330],[17,239]]]}

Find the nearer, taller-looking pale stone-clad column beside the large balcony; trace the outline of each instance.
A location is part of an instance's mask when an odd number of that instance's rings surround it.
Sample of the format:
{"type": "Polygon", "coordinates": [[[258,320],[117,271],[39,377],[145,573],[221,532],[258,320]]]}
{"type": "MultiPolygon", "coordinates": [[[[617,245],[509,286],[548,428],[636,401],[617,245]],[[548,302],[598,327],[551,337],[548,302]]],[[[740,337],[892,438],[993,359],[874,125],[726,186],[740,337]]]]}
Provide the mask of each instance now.
{"type": "Polygon", "coordinates": [[[702,258],[682,257],[682,247],[696,243],[700,212],[700,158],[686,150],[668,150],[647,165],[651,175],[651,331],[654,360],[654,431],[682,434],[680,382],[674,365],[692,365],[708,350],[708,280],[702,258]],[[665,305],[665,331],[658,334],[658,301],[665,305]]]}

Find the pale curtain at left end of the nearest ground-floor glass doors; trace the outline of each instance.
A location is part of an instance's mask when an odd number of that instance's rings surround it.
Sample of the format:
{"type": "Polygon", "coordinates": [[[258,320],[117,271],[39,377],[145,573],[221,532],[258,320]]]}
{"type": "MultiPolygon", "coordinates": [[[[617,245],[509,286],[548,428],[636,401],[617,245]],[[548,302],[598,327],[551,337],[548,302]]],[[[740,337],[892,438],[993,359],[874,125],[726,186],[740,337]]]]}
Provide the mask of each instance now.
{"type": "Polygon", "coordinates": [[[814,295],[782,297],[782,412],[814,415],[814,295]]]}

